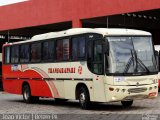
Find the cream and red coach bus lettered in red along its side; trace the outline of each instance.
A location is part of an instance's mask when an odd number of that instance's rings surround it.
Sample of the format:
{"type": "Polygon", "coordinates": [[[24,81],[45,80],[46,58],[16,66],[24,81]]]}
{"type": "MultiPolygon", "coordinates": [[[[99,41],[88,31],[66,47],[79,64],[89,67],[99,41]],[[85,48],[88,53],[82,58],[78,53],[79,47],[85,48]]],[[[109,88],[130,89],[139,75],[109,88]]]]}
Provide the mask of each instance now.
{"type": "Polygon", "coordinates": [[[92,102],[156,98],[158,70],[150,33],[119,28],[73,28],[3,46],[3,87],[26,103],[41,97],[92,102]]]}

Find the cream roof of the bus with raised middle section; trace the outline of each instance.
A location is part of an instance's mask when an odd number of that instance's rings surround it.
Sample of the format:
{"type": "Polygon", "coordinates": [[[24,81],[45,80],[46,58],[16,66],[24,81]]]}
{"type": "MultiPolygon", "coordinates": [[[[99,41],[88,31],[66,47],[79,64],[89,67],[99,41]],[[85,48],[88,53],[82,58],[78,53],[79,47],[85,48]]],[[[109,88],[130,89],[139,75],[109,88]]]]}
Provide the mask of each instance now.
{"type": "Polygon", "coordinates": [[[72,29],[59,31],[59,32],[49,32],[45,34],[35,35],[30,40],[15,42],[14,44],[27,43],[32,41],[65,37],[65,36],[71,36],[71,35],[78,35],[78,34],[84,34],[84,33],[98,33],[102,35],[151,35],[151,33],[149,32],[134,30],[134,29],[124,29],[124,28],[95,28],[95,29],[72,28],[72,29]]]}

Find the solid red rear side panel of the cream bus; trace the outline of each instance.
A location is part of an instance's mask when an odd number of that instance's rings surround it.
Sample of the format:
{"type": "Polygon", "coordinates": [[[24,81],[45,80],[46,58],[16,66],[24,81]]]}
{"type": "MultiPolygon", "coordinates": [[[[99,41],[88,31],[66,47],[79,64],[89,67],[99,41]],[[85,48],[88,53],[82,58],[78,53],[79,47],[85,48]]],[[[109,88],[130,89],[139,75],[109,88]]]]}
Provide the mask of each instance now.
{"type": "Polygon", "coordinates": [[[50,88],[40,74],[33,70],[12,71],[10,65],[3,66],[3,86],[9,93],[22,94],[22,84],[27,82],[33,96],[52,97],[50,88]],[[35,80],[33,80],[33,78],[35,80]]]}

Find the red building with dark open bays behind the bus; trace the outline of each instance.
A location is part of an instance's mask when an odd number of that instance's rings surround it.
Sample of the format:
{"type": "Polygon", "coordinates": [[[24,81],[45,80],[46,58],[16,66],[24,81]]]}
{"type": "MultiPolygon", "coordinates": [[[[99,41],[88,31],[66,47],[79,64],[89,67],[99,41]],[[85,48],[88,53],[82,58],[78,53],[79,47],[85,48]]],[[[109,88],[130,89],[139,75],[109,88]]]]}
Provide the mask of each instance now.
{"type": "Polygon", "coordinates": [[[146,30],[160,44],[159,0],[23,0],[0,6],[1,44],[75,27],[146,30]]]}

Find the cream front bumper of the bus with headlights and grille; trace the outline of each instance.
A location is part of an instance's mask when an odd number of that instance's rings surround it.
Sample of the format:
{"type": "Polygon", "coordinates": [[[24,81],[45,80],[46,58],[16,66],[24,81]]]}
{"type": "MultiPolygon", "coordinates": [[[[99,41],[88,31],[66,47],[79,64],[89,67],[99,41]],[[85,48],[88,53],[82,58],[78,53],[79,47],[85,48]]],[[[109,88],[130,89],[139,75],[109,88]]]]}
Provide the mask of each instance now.
{"type": "Polygon", "coordinates": [[[106,102],[149,99],[158,95],[158,83],[143,86],[105,85],[106,102]]]}

